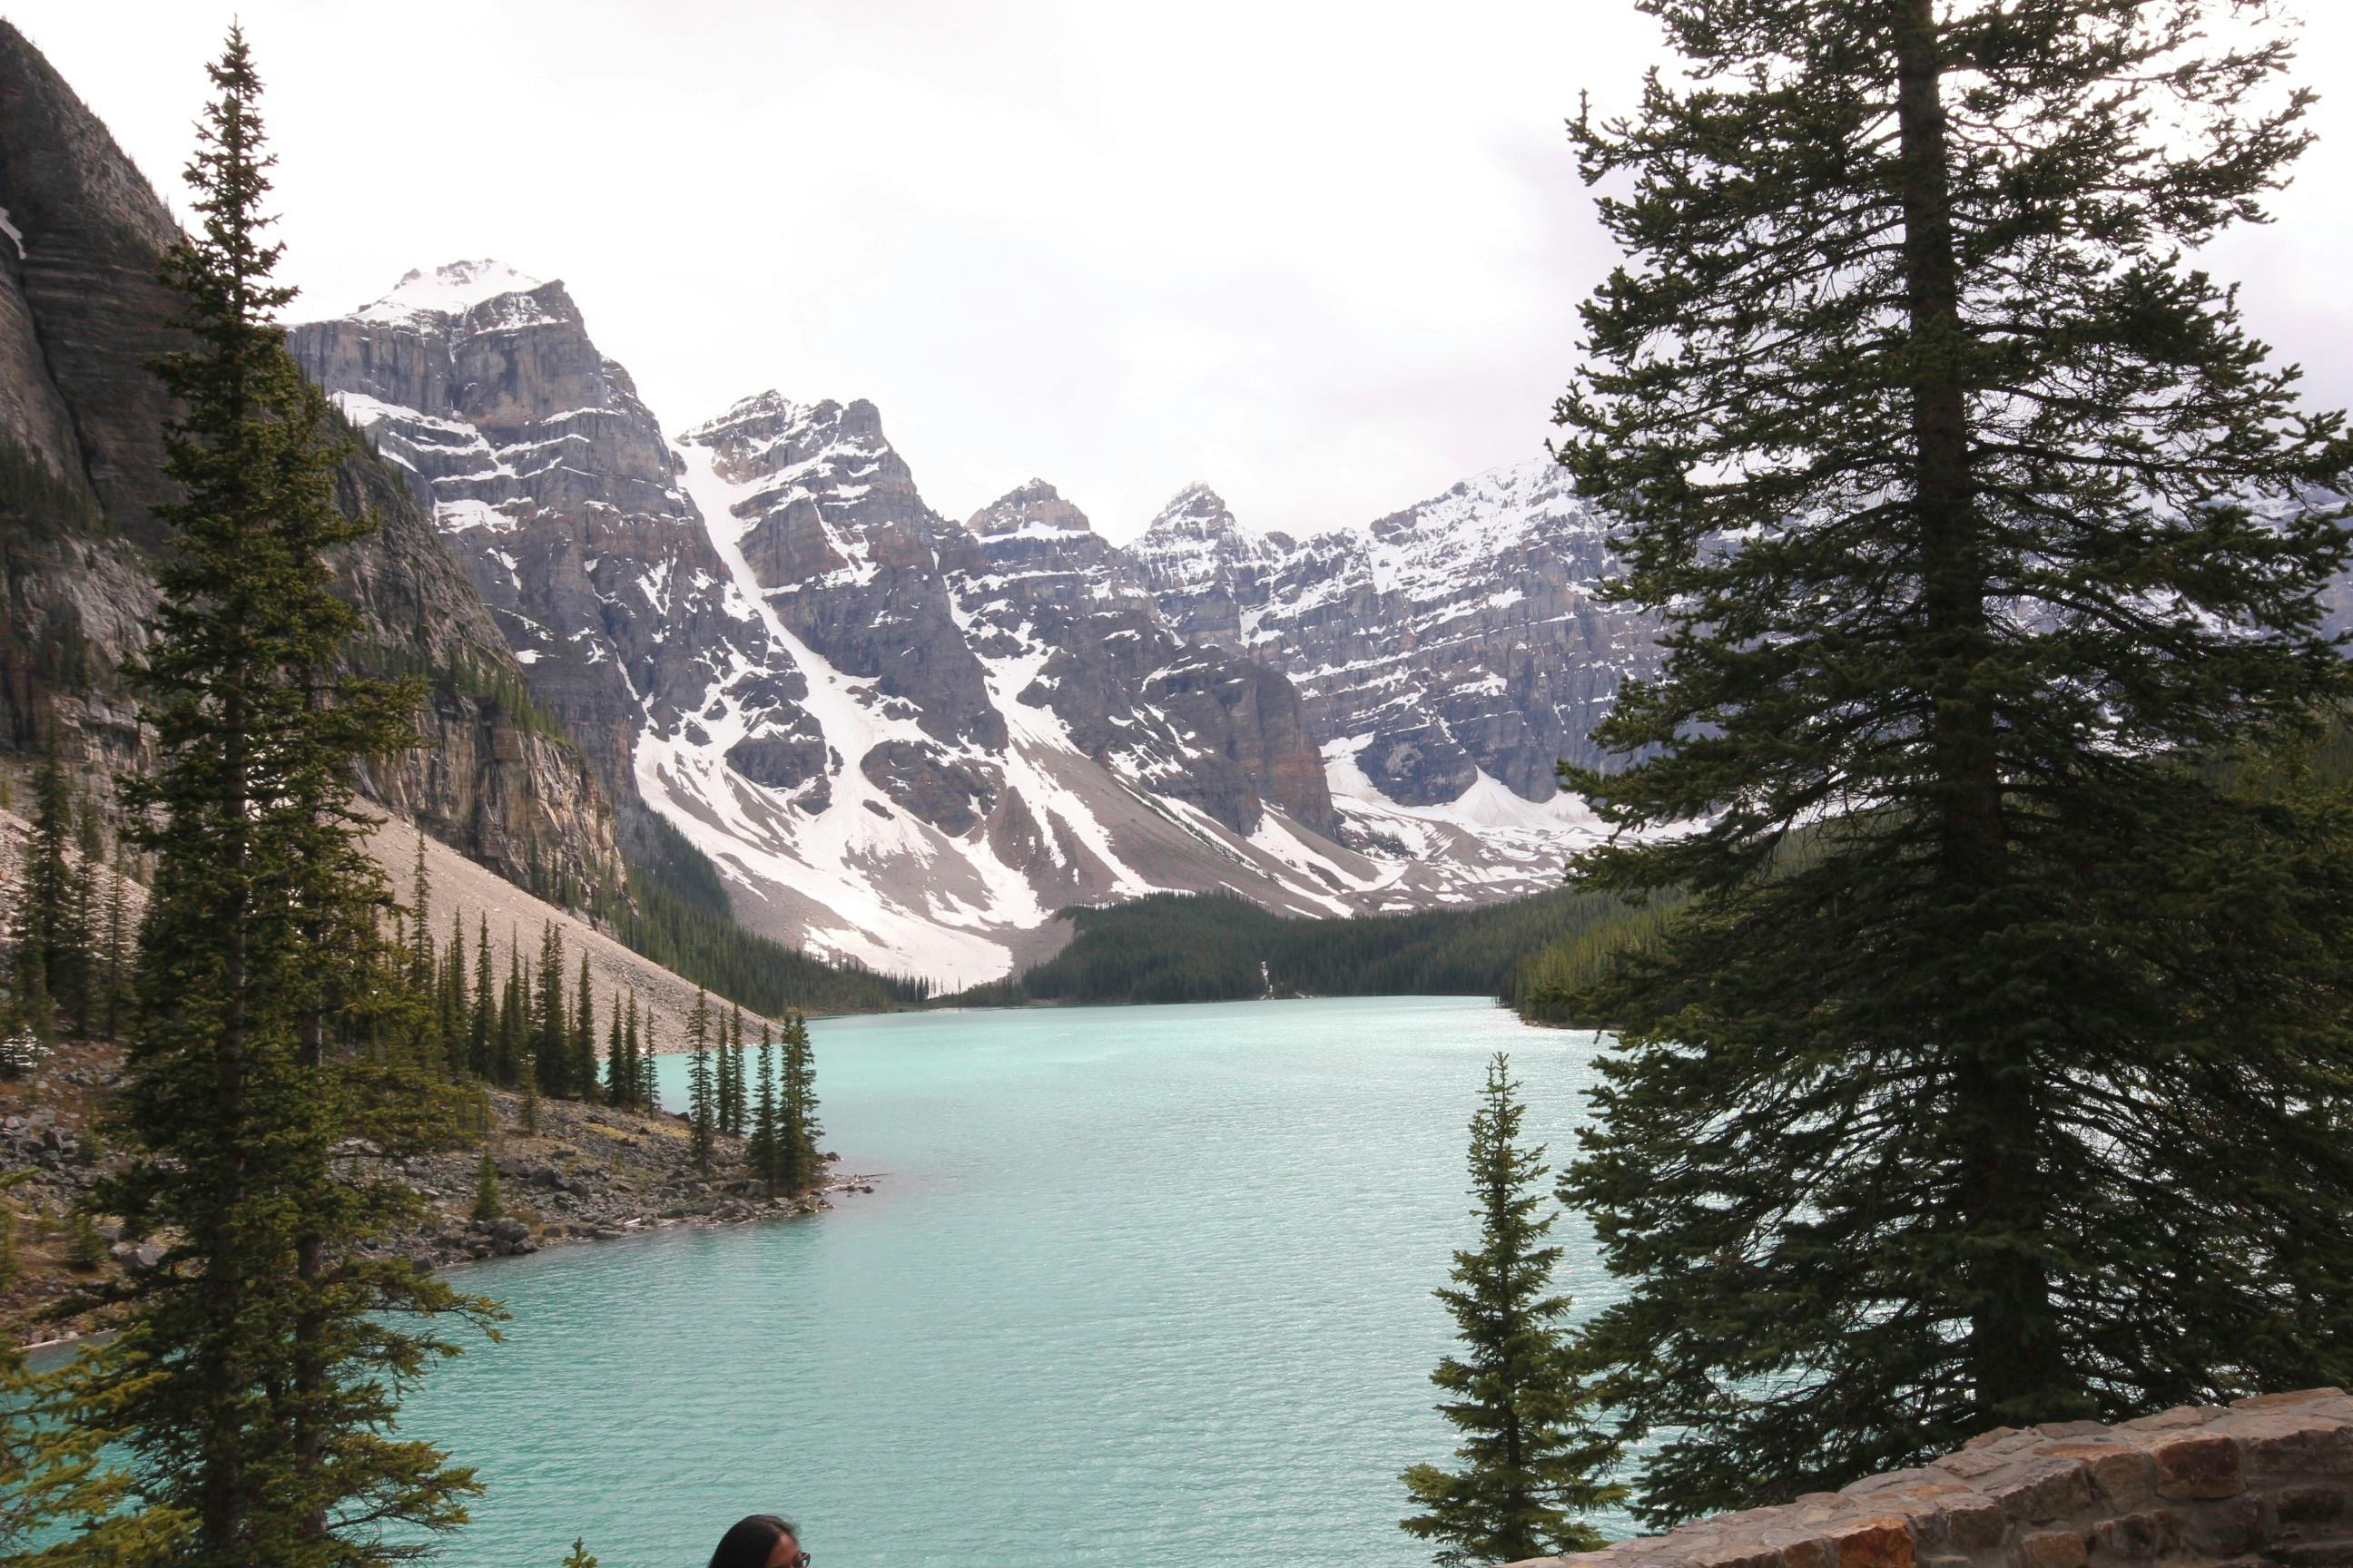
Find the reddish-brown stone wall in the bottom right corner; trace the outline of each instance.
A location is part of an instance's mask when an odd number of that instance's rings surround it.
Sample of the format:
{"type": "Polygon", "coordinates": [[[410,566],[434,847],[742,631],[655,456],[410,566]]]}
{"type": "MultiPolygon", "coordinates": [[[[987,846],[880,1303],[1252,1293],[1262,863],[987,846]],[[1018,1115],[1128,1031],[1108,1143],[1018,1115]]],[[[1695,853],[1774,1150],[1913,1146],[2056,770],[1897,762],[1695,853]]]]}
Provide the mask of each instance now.
{"type": "Polygon", "coordinates": [[[2000,1427],[1920,1469],[1515,1568],[2353,1568],[2353,1399],[2000,1427]]]}

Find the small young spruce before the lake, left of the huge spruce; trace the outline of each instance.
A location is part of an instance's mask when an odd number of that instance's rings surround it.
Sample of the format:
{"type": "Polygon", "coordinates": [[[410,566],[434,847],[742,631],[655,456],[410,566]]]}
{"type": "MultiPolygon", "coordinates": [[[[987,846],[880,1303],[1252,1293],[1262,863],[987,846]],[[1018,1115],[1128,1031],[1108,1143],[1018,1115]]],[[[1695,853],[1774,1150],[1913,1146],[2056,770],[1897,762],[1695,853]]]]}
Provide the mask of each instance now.
{"type": "Polygon", "coordinates": [[[1431,1373],[1449,1399],[1440,1415],[1461,1432],[1461,1469],[1414,1465],[1405,1490],[1421,1507],[1409,1535],[1440,1542],[1440,1568],[1513,1563],[1553,1552],[1591,1552],[1602,1533],[1586,1514],[1624,1497],[1607,1474],[1605,1436],[1579,1382],[1553,1293],[1560,1246],[1546,1241],[1544,1145],[1520,1145],[1520,1086],[1501,1051],[1471,1114],[1471,1197],[1478,1246],[1454,1253],[1454,1286],[1438,1300],[1454,1314],[1464,1354],[1431,1373]]]}

